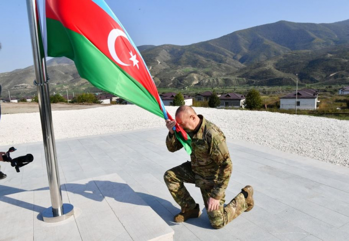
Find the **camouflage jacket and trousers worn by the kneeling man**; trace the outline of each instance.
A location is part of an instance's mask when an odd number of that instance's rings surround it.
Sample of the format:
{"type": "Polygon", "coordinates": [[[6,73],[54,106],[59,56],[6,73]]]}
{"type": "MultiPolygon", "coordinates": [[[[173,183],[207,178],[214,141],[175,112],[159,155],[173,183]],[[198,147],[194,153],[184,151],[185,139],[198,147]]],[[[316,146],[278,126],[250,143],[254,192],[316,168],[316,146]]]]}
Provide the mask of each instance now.
{"type": "MultiPolygon", "coordinates": [[[[196,133],[189,132],[191,137],[191,161],[184,162],[168,170],[165,183],[174,200],[185,212],[194,209],[196,203],[186,190],[183,183],[194,183],[201,190],[201,195],[207,211],[207,200],[212,197],[219,201],[219,209],[207,212],[213,228],[219,229],[235,219],[247,209],[246,200],[239,193],[224,207],[225,189],[228,186],[232,171],[232,163],[223,132],[212,122],[202,119],[196,133]]],[[[166,138],[169,151],[174,152],[182,148],[180,142],[170,132],[166,138]]]]}

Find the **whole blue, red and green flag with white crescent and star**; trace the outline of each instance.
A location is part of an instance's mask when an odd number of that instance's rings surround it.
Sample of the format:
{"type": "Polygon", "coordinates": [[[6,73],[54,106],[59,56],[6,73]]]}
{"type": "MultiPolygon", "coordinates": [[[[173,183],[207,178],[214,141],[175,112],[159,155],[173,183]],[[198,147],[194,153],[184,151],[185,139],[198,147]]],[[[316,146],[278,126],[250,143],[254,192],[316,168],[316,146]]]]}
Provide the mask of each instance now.
{"type": "MultiPolygon", "coordinates": [[[[65,56],[95,87],[173,120],[136,45],[104,0],[45,0],[47,56],[65,56]]],[[[176,123],[176,138],[188,154],[190,137],[176,123]]]]}

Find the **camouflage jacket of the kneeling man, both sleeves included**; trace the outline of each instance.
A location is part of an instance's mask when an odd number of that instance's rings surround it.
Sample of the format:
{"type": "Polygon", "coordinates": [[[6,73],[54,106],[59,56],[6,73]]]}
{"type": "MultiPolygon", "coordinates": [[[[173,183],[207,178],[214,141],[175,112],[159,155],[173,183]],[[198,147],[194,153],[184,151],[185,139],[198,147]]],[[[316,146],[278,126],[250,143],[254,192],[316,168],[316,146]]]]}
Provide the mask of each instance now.
{"type": "MultiPolygon", "coordinates": [[[[223,132],[212,122],[202,119],[196,133],[189,132],[192,152],[191,169],[195,174],[195,186],[212,189],[211,197],[220,200],[228,186],[232,163],[223,132]]],[[[174,134],[169,132],[166,138],[169,151],[182,148],[174,134]]]]}

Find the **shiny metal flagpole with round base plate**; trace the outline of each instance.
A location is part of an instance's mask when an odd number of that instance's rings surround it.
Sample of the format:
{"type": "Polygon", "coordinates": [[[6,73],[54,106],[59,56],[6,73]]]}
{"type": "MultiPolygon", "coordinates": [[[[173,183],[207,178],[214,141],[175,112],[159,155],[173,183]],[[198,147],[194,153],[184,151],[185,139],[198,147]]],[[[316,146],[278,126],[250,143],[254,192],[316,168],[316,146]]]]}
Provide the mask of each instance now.
{"type": "Polygon", "coordinates": [[[48,89],[48,77],[46,74],[46,59],[41,37],[39,7],[37,0],[26,0],[26,5],[36,78],[34,84],[36,85],[39,100],[48,185],[52,204],[52,207],[49,207],[42,212],[42,218],[44,222],[53,223],[71,217],[74,213],[74,207],[71,204],[63,204],[62,202],[56,144],[52,124],[50,94],[48,89]]]}

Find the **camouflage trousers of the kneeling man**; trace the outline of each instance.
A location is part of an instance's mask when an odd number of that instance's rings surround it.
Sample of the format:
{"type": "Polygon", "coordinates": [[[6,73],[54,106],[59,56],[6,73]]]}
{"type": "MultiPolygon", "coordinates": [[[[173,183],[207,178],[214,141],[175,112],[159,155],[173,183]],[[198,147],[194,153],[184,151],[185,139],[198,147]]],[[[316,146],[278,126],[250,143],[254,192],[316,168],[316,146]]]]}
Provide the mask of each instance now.
{"type": "MultiPolygon", "coordinates": [[[[168,170],[164,175],[164,180],[174,201],[181,207],[181,212],[195,208],[196,203],[183,184],[184,182],[195,183],[195,174],[191,170],[189,161],[168,170]]],[[[200,188],[200,190],[207,211],[207,200],[210,197],[211,190],[204,188],[200,188]]],[[[207,211],[208,219],[215,229],[223,228],[247,209],[247,203],[242,193],[239,193],[225,207],[224,202],[225,194],[219,201],[218,210],[207,211]]]]}

